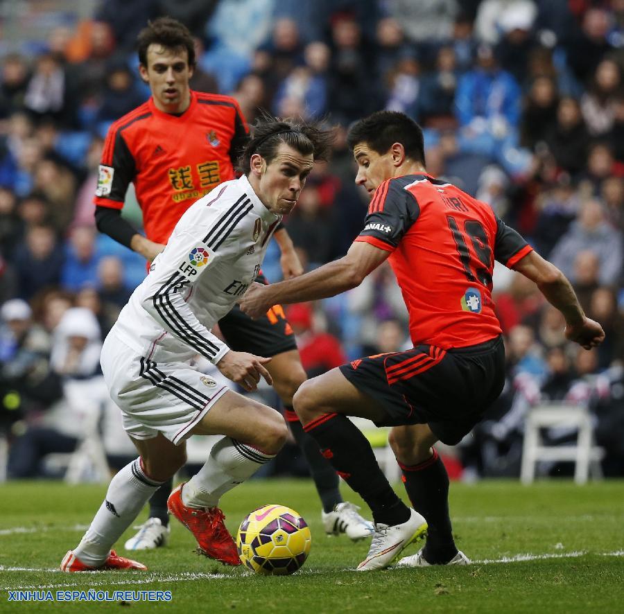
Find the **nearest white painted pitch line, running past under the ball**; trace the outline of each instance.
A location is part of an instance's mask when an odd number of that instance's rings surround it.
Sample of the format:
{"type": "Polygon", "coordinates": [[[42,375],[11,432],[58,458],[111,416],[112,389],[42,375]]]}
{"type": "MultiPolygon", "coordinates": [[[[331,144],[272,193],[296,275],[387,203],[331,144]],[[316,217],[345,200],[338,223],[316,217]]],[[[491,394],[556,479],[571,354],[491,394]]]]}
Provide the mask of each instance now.
{"type": "MultiPolygon", "coordinates": [[[[520,563],[523,561],[541,561],[544,559],[574,559],[585,554],[591,554],[587,550],[577,550],[575,552],[566,552],[565,554],[516,554],[515,556],[503,556],[501,559],[482,559],[478,561],[472,561],[471,565],[491,565],[492,563],[520,563]]],[[[615,550],[614,552],[598,552],[598,556],[624,556],[624,550],[615,550]]],[[[29,572],[53,572],[60,573],[60,569],[36,569],[36,568],[21,568],[21,567],[4,567],[0,565],[0,571],[29,571],[29,572]]],[[[355,570],[345,570],[354,571],[355,570]]],[[[302,570],[301,575],[316,575],[322,574],[322,570],[302,570]]],[[[241,578],[240,573],[236,574],[211,574],[206,572],[182,572],[179,574],[157,574],[150,573],[147,576],[143,576],[141,579],[122,579],[122,580],[91,580],[94,576],[102,576],[109,574],[107,571],[92,571],[81,572],[81,576],[87,574],[89,577],[89,587],[92,586],[137,586],[141,584],[152,584],[153,582],[189,582],[194,580],[237,580],[241,578]]],[[[110,577],[110,576],[109,576],[110,577]]],[[[63,584],[32,584],[29,586],[0,586],[0,591],[3,590],[52,590],[62,589],[72,586],[84,586],[84,582],[67,582],[63,584]]]]}

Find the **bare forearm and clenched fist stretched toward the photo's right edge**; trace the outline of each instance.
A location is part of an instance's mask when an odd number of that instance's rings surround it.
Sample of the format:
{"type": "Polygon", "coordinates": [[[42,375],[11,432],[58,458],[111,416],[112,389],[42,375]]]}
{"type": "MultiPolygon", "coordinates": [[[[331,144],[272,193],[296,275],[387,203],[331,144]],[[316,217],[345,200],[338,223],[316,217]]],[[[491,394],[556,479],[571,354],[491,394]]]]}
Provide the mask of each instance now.
{"type": "Polygon", "coordinates": [[[588,350],[605,340],[603,327],[583,313],[572,284],[555,265],[537,252],[529,252],[514,269],[535,281],[546,300],[560,310],[566,319],[566,337],[569,340],[588,350]]]}

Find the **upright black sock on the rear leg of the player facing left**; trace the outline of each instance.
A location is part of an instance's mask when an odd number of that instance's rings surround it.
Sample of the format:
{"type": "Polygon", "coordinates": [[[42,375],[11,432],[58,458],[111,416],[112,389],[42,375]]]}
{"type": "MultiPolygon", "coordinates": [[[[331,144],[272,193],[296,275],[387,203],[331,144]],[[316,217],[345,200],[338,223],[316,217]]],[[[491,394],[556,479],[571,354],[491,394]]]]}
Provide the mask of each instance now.
{"type": "Polygon", "coordinates": [[[449,475],[442,459],[433,456],[417,465],[399,463],[403,483],[412,507],[428,524],[427,541],[423,550],[427,563],[448,563],[457,554],[449,516],[449,475]]]}

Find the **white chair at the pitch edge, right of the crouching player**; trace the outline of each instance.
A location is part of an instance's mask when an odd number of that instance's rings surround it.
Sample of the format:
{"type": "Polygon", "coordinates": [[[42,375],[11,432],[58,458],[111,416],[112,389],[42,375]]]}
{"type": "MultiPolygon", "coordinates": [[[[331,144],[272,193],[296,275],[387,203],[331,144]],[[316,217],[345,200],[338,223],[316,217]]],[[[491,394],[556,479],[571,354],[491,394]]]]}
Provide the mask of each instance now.
{"type": "Polygon", "coordinates": [[[593,439],[591,414],[584,405],[573,403],[544,403],[528,412],[525,422],[520,479],[530,484],[535,479],[537,464],[542,461],[569,461],[575,464],[574,481],[587,482],[603,477],[600,460],[605,450],[596,446],[593,439]],[[542,428],[564,428],[577,432],[575,444],[551,445],[544,443],[542,428]]]}

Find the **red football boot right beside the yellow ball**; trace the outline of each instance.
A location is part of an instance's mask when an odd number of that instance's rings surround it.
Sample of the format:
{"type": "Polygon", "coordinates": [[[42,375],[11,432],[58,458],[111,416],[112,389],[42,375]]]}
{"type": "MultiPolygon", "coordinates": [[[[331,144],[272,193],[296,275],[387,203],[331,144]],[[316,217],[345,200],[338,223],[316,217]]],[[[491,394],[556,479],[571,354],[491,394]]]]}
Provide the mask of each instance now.
{"type": "Polygon", "coordinates": [[[195,536],[202,554],[225,565],[241,565],[236,544],[223,523],[223,511],[218,507],[187,507],[182,502],[182,486],[184,483],[169,495],[169,513],[195,536]]]}

